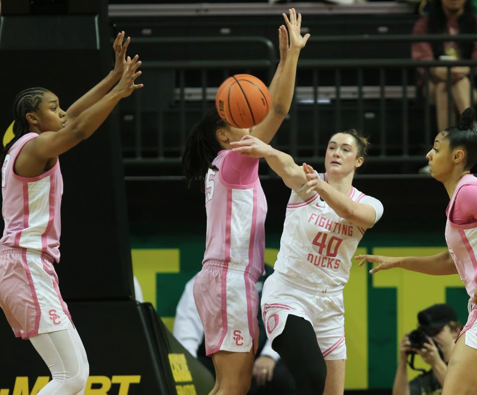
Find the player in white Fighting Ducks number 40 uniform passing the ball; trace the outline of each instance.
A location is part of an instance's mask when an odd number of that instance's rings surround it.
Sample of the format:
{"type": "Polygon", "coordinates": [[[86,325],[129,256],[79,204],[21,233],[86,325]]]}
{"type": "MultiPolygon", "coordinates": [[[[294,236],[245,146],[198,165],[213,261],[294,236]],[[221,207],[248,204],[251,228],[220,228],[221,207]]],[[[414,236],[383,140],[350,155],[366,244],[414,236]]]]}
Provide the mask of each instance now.
{"type": "Polygon", "coordinates": [[[275,272],[261,306],[272,348],[292,373],[297,394],[344,392],[346,343],[343,288],[351,258],[383,205],[351,184],[368,142],[357,131],[334,134],[325,173],[245,136],[234,151],[263,157],[292,189],[275,272]]]}

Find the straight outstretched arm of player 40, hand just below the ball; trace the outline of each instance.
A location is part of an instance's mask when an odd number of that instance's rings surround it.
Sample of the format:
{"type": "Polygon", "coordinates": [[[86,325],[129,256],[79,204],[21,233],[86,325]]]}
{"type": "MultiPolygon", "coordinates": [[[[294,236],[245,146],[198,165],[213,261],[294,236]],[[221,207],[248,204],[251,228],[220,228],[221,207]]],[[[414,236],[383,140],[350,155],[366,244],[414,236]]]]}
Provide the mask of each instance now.
{"type": "Polygon", "coordinates": [[[251,158],[265,158],[268,165],[277,173],[286,186],[299,189],[307,182],[302,167],[284,152],[275,150],[256,137],[246,135],[240,141],[231,142],[233,150],[251,158]]]}

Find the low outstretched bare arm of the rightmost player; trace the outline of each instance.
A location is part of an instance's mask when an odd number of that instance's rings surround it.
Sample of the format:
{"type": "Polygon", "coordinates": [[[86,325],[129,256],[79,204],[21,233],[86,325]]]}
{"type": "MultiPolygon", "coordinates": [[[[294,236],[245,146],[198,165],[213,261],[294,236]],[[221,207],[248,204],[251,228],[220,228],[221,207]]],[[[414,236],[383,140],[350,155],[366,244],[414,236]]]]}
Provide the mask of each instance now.
{"type": "Polygon", "coordinates": [[[363,254],[355,256],[355,259],[361,259],[359,266],[364,265],[365,262],[377,263],[378,265],[369,271],[371,274],[394,267],[437,276],[457,273],[456,265],[449,251],[428,256],[400,257],[363,254]]]}

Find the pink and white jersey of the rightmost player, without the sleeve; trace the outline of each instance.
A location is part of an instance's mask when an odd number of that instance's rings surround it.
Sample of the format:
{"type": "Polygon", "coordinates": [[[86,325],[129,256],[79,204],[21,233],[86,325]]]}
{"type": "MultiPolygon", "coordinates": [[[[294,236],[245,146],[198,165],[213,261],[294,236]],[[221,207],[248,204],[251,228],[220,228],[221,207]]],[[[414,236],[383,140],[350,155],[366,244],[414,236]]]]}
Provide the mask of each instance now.
{"type": "Polygon", "coordinates": [[[472,174],[468,174],[462,177],[457,184],[454,195],[446,210],[447,223],[445,234],[447,247],[471,299],[474,299],[474,293],[477,288],[477,222],[458,225],[454,224],[450,218],[452,218],[454,203],[459,190],[465,185],[475,183],[477,183],[477,178],[472,174]]]}

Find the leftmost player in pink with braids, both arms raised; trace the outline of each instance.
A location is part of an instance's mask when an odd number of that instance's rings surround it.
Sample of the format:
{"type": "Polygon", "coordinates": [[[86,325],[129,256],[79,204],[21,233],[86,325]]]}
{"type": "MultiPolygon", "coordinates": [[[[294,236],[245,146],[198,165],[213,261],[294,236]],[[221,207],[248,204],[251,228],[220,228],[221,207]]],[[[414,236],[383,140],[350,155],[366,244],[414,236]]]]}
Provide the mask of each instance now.
{"type": "Polygon", "coordinates": [[[45,88],[23,90],[13,102],[14,138],[1,168],[0,307],[15,336],[29,339],[50,369],[52,381],[39,395],[84,394],[89,374],[53,267],[60,261],[58,156],[91,136],[121,98],[142,87],[134,83],[141,62],[137,55],[125,59],[129,38],[124,45],[123,40],[124,32],[114,43],[114,71],[66,112],[45,88]]]}

